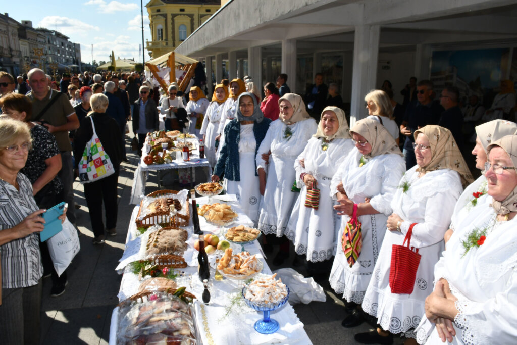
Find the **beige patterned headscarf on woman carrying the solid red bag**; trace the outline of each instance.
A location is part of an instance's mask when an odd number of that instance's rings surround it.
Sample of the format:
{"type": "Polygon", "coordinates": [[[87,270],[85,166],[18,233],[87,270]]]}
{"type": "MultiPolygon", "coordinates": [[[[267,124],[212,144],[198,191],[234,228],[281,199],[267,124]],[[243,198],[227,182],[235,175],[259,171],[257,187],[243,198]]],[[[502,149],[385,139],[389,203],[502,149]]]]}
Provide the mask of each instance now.
{"type": "Polygon", "coordinates": [[[427,173],[439,169],[452,169],[460,174],[463,188],[474,181],[450,130],[427,125],[415,131],[415,140],[419,133],[425,134],[429,140],[433,156],[425,167],[419,167],[417,171],[427,173]]]}

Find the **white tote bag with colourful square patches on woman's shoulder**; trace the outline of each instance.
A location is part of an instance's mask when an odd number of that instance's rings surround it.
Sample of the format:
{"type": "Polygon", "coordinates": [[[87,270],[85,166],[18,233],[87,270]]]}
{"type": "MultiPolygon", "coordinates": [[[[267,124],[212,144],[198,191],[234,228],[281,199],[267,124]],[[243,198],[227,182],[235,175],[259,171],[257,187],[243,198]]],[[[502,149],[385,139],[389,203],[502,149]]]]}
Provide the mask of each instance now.
{"type": "Polygon", "coordinates": [[[115,173],[110,157],[104,151],[104,147],[97,136],[92,116],[90,116],[90,120],[92,121],[94,134],[92,139],[86,143],[83,157],[79,161],[79,179],[82,184],[99,181],[101,178],[115,173]]]}

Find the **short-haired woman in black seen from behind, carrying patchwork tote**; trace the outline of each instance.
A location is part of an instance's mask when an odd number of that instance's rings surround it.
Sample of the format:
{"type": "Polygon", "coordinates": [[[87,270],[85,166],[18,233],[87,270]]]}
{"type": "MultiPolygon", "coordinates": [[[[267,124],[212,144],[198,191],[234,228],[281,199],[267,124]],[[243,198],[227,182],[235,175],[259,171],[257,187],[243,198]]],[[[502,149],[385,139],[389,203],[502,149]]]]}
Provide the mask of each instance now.
{"type": "Polygon", "coordinates": [[[73,155],[75,158],[75,169],[79,166],[80,157],[83,156],[86,143],[92,139],[93,118],[95,131],[104,147],[104,151],[110,157],[115,173],[100,179],[99,181],[84,184],[84,197],[89,209],[92,230],[94,232],[94,244],[104,243],[104,223],[102,222],[102,201],[104,201],[104,211],[106,214],[106,229],[108,235],[117,234],[115,228],[117,224],[117,181],[120,162],[122,161],[122,134],[117,122],[106,114],[108,108],[108,97],[103,94],[95,94],[90,99],[93,113],[86,116],[75,137],[75,147],[73,155]]]}

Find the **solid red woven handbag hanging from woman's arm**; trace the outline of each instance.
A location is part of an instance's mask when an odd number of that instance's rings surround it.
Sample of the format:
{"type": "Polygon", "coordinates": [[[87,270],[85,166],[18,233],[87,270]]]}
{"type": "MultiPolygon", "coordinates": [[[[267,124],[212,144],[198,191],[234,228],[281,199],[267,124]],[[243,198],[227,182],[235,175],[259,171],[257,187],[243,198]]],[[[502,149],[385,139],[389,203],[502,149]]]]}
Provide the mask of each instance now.
{"type": "Polygon", "coordinates": [[[389,287],[391,293],[410,294],[415,287],[418,265],[420,264],[420,254],[418,248],[409,247],[413,227],[417,223],[411,224],[407,231],[402,246],[394,244],[391,249],[391,265],[389,269],[389,287]],[[407,246],[405,246],[407,241],[407,246]]]}

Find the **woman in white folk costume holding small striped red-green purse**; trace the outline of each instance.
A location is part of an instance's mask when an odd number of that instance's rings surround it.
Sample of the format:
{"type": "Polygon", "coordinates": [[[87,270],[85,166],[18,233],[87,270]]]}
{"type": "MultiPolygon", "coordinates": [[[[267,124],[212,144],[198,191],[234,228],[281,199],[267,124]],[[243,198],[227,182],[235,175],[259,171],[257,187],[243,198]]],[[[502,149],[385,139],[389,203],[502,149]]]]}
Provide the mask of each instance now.
{"type": "Polygon", "coordinates": [[[330,182],[346,154],[354,148],[348,131],[345,112],[326,107],[316,134],[294,163],[296,183],[301,191],[285,235],[293,241],[296,253],[305,254],[307,261],[325,261],[335,254],[341,217],[332,208],[337,203],[330,197],[330,182]],[[312,183],[320,189],[318,209],[305,206],[307,188],[312,183]]]}

